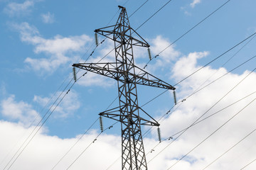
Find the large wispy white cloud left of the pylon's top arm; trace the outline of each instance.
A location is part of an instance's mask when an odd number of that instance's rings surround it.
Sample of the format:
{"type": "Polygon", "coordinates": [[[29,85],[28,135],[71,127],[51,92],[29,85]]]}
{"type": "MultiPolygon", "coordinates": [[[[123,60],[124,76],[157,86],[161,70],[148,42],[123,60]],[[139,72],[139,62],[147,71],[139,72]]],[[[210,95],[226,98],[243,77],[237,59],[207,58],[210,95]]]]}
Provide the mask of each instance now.
{"type": "Polygon", "coordinates": [[[25,62],[36,71],[54,72],[60,65],[77,60],[74,59],[75,52],[85,50],[85,45],[92,42],[87,35],[63,37],[55,35],[54,38],[43,38],[39,31],[28,23],[13,24],[12,28],[21,34],[21,41],[34,45],[36,54],[45,53],[45,58],[27,57],[25,62]]]}

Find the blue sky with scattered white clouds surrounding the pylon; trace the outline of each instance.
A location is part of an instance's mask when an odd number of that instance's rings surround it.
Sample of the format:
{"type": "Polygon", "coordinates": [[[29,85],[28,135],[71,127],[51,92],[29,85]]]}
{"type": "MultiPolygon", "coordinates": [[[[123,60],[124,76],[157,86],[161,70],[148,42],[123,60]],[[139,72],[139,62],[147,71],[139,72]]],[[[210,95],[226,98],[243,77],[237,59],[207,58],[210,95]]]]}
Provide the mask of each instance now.
{"type": "Polygon", "coordinates": [[[256,1],[225,2],[0,0],[0,169],[121,169],[120,123],[103,118],[101,133],[98,120],[119,106],[117,82],[78,69],[74,81],[72,67],[114,61],[94,30],[119,5],[151,46],[150,62],[134,47],[135,64],[176,87],[175,105],[173,91],[137,86],[161,129],[159,142],[142,126],[148,168],[256,169],[256,1]]]}

